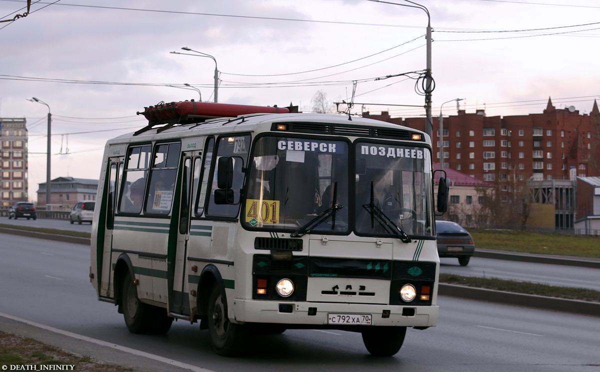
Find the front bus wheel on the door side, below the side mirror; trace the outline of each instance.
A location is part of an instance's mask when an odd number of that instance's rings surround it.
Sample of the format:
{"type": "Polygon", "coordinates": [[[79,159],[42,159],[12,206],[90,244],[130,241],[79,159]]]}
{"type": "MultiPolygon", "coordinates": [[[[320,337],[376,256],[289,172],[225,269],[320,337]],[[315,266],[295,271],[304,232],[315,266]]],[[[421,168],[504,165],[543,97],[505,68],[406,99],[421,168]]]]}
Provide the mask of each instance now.
{"type": "Polygon", "coordinates": [[[218,355],[238,355],[244,344],[245,331],[243,325],[229,322],[223,293],[215,284],[208,302],[208,332],[211,335],[212,348],[218,355]]]}

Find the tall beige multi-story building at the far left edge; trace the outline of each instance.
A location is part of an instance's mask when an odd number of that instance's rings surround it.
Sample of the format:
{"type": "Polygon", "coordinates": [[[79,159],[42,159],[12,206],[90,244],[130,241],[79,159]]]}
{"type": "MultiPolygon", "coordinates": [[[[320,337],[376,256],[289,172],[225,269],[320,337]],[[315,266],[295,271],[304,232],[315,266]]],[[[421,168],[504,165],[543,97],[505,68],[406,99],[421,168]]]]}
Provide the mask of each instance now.
{"type": "Polygon", "coordinates": [[[0,199],[2,206],[28,200],[27,129],[25,118],[0,119],[2,170],[0,199]]]}

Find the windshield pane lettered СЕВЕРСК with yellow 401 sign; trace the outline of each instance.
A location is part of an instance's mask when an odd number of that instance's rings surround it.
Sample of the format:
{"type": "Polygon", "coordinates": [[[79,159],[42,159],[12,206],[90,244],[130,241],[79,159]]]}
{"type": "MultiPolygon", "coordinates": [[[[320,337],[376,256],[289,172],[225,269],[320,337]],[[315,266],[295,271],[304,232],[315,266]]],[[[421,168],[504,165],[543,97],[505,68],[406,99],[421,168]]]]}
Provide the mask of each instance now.
{"type": "Polygon", "coordinates": [[[248,227],[296,230],[336,204],[340,211],[313,230],[349,231],[347,142],[261,137],[249,165],[242,211],[248,227]]]}

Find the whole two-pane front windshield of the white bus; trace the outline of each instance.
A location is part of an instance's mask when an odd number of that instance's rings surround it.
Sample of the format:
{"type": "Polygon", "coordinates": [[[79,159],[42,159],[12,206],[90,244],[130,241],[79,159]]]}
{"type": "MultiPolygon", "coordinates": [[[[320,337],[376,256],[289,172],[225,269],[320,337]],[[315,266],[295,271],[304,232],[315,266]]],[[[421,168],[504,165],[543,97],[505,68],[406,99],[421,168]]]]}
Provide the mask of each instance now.
{"type": "Polygon", "coordinates": [[[431,236],[429,150],[352,146],[350,151],[346,141],[302,137],[257,139],[242,223],[299,236],[351,231],[405,241],[406,235],[431,236]]]}

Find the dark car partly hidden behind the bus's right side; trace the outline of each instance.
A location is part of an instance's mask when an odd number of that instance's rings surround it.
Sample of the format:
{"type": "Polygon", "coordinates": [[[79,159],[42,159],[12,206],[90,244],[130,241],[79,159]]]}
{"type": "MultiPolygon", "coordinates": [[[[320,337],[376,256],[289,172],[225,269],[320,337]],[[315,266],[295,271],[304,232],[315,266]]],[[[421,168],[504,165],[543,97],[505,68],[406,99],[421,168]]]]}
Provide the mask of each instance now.
{"type": "Polygon", "coordinates": [[[440,257],[456,257],[460,266],[469,265],[475,244],[467,230],[452,221],[436,221],[436,233],[440,257]]]}

